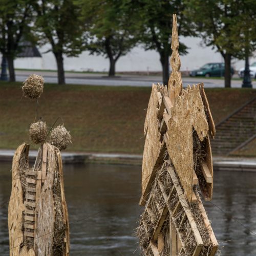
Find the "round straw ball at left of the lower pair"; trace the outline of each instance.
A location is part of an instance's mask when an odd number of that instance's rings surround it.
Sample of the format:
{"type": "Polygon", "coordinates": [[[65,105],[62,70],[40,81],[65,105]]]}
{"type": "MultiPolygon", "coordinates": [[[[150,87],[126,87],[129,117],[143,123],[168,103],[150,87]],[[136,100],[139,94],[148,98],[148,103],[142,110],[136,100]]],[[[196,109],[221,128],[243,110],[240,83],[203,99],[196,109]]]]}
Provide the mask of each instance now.
{"type": "Polygon", "coordinates": [[[47,134],[48,127],[46,122],[38,121],[30,125],[29,137],[35,144],[45,142],[47,134]]]}

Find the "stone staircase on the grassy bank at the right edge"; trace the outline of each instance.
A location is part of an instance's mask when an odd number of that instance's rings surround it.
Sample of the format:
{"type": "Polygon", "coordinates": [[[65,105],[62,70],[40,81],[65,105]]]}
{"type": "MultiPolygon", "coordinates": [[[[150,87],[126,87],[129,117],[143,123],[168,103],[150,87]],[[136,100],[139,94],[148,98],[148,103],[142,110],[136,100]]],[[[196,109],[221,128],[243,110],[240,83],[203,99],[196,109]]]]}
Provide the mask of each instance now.
{"type": "Polygon", "coordinates": [[[228,155],[256,133],[256,97],[244,104],[216,125],[216,136],[211,140],[213,155],[228,155]]]}

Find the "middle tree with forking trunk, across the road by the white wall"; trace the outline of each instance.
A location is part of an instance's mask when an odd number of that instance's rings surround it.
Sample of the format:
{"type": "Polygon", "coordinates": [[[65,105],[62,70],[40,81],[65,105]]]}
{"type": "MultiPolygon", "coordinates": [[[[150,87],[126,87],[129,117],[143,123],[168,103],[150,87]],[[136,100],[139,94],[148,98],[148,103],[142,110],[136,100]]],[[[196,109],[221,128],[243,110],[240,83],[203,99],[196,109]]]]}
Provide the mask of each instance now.
{"type": "Polygon", "coordinates": [[[109,76],[117,60],[136,45],[134,12],[126,0],[80,0],[82,20],[88,31],[86,48],[109,58],[109,76]]]}

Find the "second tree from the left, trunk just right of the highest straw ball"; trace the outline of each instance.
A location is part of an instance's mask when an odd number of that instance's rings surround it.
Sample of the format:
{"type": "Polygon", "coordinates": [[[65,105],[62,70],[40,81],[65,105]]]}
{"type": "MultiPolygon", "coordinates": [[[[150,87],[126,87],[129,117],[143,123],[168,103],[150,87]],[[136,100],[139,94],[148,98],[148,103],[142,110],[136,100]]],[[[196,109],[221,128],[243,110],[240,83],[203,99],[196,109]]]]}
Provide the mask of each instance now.
{"type": "Polygon", "coordinates": [[[58,84],[65,84],[63,55],[78,56],[82,51],[80,9],[73,0],[41,0],[37,2],[36,12],[41,44],[50,43],[49,51],[57,62],[58,84]]]}

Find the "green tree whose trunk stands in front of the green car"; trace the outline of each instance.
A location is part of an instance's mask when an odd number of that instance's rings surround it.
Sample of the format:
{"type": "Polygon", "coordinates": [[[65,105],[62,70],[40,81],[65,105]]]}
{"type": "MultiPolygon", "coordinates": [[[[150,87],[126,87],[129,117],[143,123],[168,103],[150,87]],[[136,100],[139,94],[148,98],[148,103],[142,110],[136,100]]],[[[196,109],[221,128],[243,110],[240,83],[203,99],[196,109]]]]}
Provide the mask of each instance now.
{"type": "MultiPolygon", "coordinates": [[[[206,46],[216,47],[225,61],[225,87],[231,87],[231,58],[238,56],[237,40],[233,36],[240,15],[240,1],[185,0],[185,15],[196,25],[206,46]]],[[[243,1],[242,1],[243,2],[243,1]]]]}

